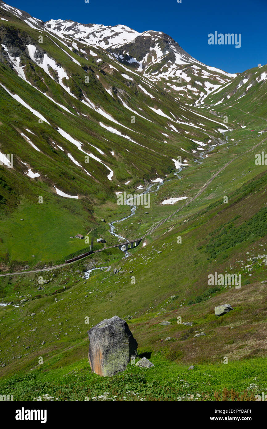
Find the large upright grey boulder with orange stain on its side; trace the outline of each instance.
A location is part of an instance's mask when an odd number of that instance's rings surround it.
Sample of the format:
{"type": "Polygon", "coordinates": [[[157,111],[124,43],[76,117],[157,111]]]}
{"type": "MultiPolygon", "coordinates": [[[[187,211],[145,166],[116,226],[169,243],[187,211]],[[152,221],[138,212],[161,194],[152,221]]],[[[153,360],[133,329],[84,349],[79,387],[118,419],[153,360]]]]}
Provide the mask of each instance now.
{"type": "Polygon", "coordinates": [[[111,377],[126,369],[131,356],[138,356],[137,341],[126,321],[118,316],[102,320],[88,335],[89,363],[96,374],[111,377]]]}

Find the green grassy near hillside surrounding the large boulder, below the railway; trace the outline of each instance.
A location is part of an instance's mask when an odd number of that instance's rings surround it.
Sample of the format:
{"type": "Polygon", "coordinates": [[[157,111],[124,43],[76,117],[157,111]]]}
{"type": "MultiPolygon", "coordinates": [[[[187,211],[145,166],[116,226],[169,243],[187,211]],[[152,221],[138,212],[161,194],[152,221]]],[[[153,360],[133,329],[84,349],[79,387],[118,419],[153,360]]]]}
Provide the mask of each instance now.
{"type": "MultiPolygon", "coordinates": [[[[244,149],[261,141],[258,137],[244,140],[243,149],[235,144],[235,133],[229,137],[234,142],[227,153],[225,145],[219,146],[202,164],[183,169],[183,178],[166,181],[159,188],[147,215],[148,224],[138,225],[137,211],[136,216],[126,221],[128,227],[124,227],[124,222],[119,225],[120,233],[127,232],[129,223],[133,223],[133,230],[145,231],[150,223],[156,224],[174,210],[173,206],[161,206],[162,199],[183,194],[190,189],[189,184],[192,191],[188,196],[195,194],[218,166],[241,154],[231,169],[223,170],[212,182],[202,198],[162,225],[146,239],[146,246],[133,249],[130,257],[121,259],[118,250],[92,255],[87,262],[54,270],[54,278],[53,271],[46,273],[44,278],[53,280],[40,291],[37,287],[41,274],[1,279],[4,301],[12,300],[18,305],[1,308],[0,356],[1,362],[6,363],[1,370],[3,386],[4,383],[9,386],[9,377],[12,380],[18,373],[21,380],[16,391],[18,398],[30,377],[32,388],[27,398],[49,393],[70,400],[84,400],[83,395],[93,398],[111,387],[113,394],[126,396],[128,388],[121,387],[126,379],[130,390],[136,392],[138,386],[147,399],[166,400],[167,393],[172,399],[175,395],[198,393],[204,400],[214,400],[216,392],[221,394],[225,387],[240,394],[249,388],[248,393],[254,397],[258,390],[264,389],[266,173],[264,166],[255,166],[253,153],[242,155],[244,149]],[[176,195],[174,190],[178,191],[176,195]],[[223,203],[225,195],[227,204],[223,203]],[[246,235],[240,236],[243,228],[246,235]],[[181,244],[177,244],[178,236],[182,237],[181,244]],[[214,239],[220,237],[223,240],[217,243],[214,255],[211,247],[214,239]],[[86,267],[109,265],[109,272],[97,270],[89,280],[79,278],[86,267]],[[113,274],[114,267],[120,268],[119,274],[113,274]],[[215,271],[241,274],[241,288],[209,286],[207,276],[215,271]],[[214,307],[223,303],[230,303],[234,311],[218,318],[214,307]],[[35,316],[30,316],[32,313],[35,316]],[[114,314],[128,320],[139,353],[147,353],[155,364],[151,374],[143,375],[129,366],[126,374],[114,381],[90,375],[85,359],[86,331],[114,314]],[[89,325],[84,323],[87,316],[89,325]],[[177,324],[177,316],[182,322],[192,322],[192,327],[177,324]],[[163,320],[170,324],[160,325],[163,320]],[[196,332],[205,335],[196,338],[196,332]],[[16,339],[17,336],[20,338],[16,339]],[[165,341],[167,337],[172,340],[165,341]],[[43,365],[38,365],[39,356],[44,359],[43,365]],[[228,364],[223,363],[225,356],[228,364]],[[196,370],[188,372],[189,365],[195,365],[196,370]],[[26,375],[32,373],[31,369],[33,375],[26,375]],[[181,374],[179,382],[173,386],[178,374],[181,374]],[[76,377],[78,384],[83,385],[82,394],[74,388],[76,377]],[[51,379],[54,384],[49,387],[51,379]],[[159,397],[156,384],[163,392],[159,397]],[[64,390],[67,386],[69,393],[64,390]],[[169,392],[171,387],[173,390],[169,392]]],[[[175,207],[179,204],[182,202],[175,207]]]]}

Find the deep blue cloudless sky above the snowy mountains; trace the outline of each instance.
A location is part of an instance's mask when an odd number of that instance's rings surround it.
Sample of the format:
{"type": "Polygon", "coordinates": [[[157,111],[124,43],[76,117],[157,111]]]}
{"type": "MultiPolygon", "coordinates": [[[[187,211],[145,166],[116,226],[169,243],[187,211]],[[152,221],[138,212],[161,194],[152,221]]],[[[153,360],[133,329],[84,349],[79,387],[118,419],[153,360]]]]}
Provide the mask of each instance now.
{"type": "Polygon", "coordinates": [[[267,0],[9,0],[36,18],[163,31],[190,55],[230,73],[267,63],[267,0]],[[208,45],[209,33],[241,33],[241,47],[208,45]]]}

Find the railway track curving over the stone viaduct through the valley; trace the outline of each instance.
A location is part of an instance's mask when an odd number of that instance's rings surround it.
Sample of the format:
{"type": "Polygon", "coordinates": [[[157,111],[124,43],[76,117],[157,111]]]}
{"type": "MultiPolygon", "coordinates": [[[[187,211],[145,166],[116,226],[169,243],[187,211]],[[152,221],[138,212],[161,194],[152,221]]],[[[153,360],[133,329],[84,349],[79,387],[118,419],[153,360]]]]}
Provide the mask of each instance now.
{"type": "MultiPolygon", "coordinates": [[[[209,186],[209,184],[220,174],[220,172],[222,172],[222,170],[224,170],[229,164],[231,164],[233,161],[235,161],[235,160],[237,160],[238,158],[240,158],[241,156],[243,156],[243,155],[245,155],[245,154],[247,154],[248,152],[251,152],[251,151],[253,151],[255,148],[257,148],[259,145],[261,145],[262,143],[264,143],[265,141],[267,140],[267,137],[266,137],[266,139],[264,139],[264,140],[262,140],[260,143],[258,143],[257,145],[255,145],[255,146],[253,146],[252,148],[250,148],[250,149],[248,149],[246,152],[244,152],[243,154],[240,154],[240,155],[238,155],[237,157],[235,157],[235,158],[233,158],[232,160],[230,160],[230,161],[228,161],[228,163],[226,163],[224,166],[222,166],[222,168],[220,168],[208,181],[207,181],[207,183],[205,183],[204,184],[204,186],[201,188],[201,190],[199,190],[199,192],[195,195],[195,196],[193,196],[192,198],[190,198],[185,204],[183,204],[181,207],[179,207],[176,211],[174,211],[171,215],[169,215],[167,218],[165,218],[165,219],[163,219],[163,221],[161,221],[161,222],[159,222],[159,224],[157,224],[155,227],[153,227],[151,230],[149,230],[146,234],[144,234],[144,236],[141,236],[141,237],[138,237],[137,239],[134,239],[134,240],[130,240],[130,241],[127,241],[127,242],[124,242],[124,243],[120,243],[120,244],[116,244],[116,245],[113,245],[113,246],[108,246],[108,247],[105,247],[105,248],[102,248],[102,249],[99,249],[99,250],[96,250],[96,251],[93,251],[91,254],[94,254],[94,253],[98,253],[98,252],[102,252],[103,250],[108,250],[108,249],[112,249],[112,248],[115,248],[115,247],[119,247],[119,246],[123,246],[123,245],[126,245],[126,244],[129,244],[129,243],[132,243],[132,242],[136,242],[136,241],[139,241],[139,240],[143,240],[145,237],[147,237],[148,235],[150,235],[151,233],[153,233],[153,231],[155,231],[157,228],[159,228],[162,224],[164,224],[166,221],[168,221],[168,219],[171,219],[174,215],[176,215],[180,210],[182,210],[184,207],[186,207],[187,205],[189,205],[190,204],[190,202],[192,202],[192,201],[194,201],[196,198],[198,198],[198,196],[200,196],[201,195],[201,193],[207,188],[207,186],[209,186]]],[[[84,258],[87,258],[88,257],[88,255],[86,255],[86,256],[83,256],[83,257],[81,257],[81,258],[77,258],[77,260],[82,260],[82,259],[84,259],[84,258]]],[[[19,275],[19,274],[28,274],[28,273],[34,273],[34,272],[42,272],[42,271],[50,271],[50,270],[52,270],[52,269],[57,269],[57,268],[61,268],[61,267],[64,267],[64,266],[67,266],[67,265],[69,265],[69,264],[72,264],[72,263],[74,263],[74,262],[76,262],[76,260],[75,261],[73,261],[73,262],[70,262],[70,263],[63,263],[63,264],[60,264],[60,265],[54,265],[54,266],[51,266],[51,267],[48,267],[48,268],[42,268],[42,269],[36,269],[36,270],[30,270],[30,271],[19,271],[19,272],[9,272],[9,273],[6,273],[6,274],[0,274],[0,277],[5,277],[5,276],[7,276],[7,275],[19,275]]]]}

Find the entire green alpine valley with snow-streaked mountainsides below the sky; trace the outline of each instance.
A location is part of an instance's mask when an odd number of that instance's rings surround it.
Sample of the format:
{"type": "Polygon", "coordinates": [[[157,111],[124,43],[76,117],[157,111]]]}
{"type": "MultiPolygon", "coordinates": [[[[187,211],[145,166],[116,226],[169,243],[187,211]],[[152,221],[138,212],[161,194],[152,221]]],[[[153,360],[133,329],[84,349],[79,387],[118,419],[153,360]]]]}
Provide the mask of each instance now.
{"type": "Polygon", "coordinates": [[[1,395],[267,390],[266,97],[267,65],[231,74],[162,32],[43,22],[0,1],[1,395]],[[153,368],[90,371],[87,329],[115,314],[153,368]]]}

